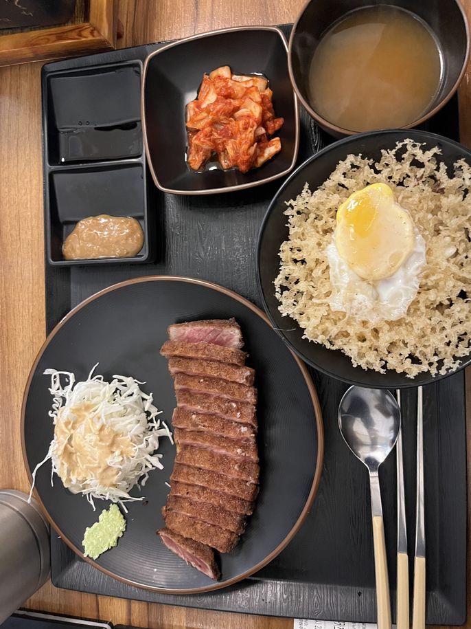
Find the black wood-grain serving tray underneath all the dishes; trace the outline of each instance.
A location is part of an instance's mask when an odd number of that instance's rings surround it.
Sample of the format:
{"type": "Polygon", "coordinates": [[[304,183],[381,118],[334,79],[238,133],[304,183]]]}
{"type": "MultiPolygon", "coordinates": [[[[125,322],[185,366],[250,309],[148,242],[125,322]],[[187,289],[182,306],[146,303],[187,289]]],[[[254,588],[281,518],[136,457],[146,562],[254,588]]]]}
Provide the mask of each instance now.
{"type": "MultiPolygon", "coordinates": [[[[284,27],[288,32],[289,27],[284,27]]],[[[159,44],[50,63],[55,71],[143,60],[159,44]]],[[[222,60],[221,60],[222,63],[222,60]]],[[[44,100],[43,100],[44,107],[44,100]]],[[[43,115],[47,116],[47,111],[43,115]]],[[[427,129],[457,139],[452,99],[427,129]]],[[[301,111],[299,163],[332,139],[301,111]]],[[[255,245],[280,182],[249,192],[176,197],[154,190],[157,261],[146,265],[52,267],[46,261],[47,331],[96,291],[128,278],[176,274],[211,280],[260,306],[255,245]]],[[[126,586],[82,562],[51,534],[54,585],[142,601],[297,618],[376,621],[374,560],[366,470],[338,433],[336,409],[346,386],[312,370],[325,423],[325,460],[314,506],[288,548],[251,579],[198,596],[162,595],[126,586]]],[[[466,621],[466,424],[464,376],[457,373],[424,390],[427,547],[427,622],[466,621]]],[[[415,538],[415,390],[406,390],[404,464],[411,575],[415,538]]],[[[382,498],[391,600],[395,600],[395,456],[382,466],[382,498]]],[[[157,542],[156,542],[157,543],[157,542]]],[[[412,579],[411,579],[412,584],[412,579]]],[[[393,605],[395,608],[395,605],[393,605]]],[[[395,616],[393,610],[393,619],[395,616]]]]}

